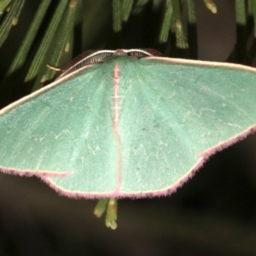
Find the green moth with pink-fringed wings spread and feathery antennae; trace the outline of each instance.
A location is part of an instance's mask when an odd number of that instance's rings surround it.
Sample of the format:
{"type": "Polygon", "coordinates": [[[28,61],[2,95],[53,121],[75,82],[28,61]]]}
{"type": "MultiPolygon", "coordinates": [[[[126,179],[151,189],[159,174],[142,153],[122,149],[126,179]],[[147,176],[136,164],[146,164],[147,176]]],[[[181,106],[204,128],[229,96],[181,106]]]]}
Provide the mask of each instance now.
{"type": "Polygon", "coordinates": [[[255,130],[255,106],[252,67],[102,50],[1,110],[0,168],[70,197],[168,195],[255,130]]]}

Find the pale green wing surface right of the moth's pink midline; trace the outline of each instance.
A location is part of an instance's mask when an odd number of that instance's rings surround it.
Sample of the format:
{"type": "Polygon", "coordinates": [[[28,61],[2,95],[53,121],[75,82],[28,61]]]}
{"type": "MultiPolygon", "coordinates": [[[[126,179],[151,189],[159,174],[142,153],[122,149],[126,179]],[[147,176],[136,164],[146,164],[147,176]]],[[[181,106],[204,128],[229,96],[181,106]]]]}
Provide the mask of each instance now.
{"type": "Polygon", "coordinates": [[[253,68],[168,58],[125,59],[120,195],[163,195],[256,124],[253,68]]]}

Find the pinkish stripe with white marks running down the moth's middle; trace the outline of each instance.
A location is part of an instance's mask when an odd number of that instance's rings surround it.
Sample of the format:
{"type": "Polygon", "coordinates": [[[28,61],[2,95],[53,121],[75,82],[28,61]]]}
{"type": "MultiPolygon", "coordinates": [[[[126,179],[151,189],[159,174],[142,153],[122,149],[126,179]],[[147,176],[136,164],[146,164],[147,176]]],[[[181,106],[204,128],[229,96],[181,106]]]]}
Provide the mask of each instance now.
{"type": "Polygon", "coordinates": [[[122,181],[122,154],[121,154],[121,143],[119,137],[119,77],[120,70],[119,64],[116,62],[113,68],[113,136],[115,138],[116,143],[116,154],[117,154],[117,162],[116,162],[116,174],[117,174],[117,184],[114,193],[119,193],[119,189],[122,181]]]}

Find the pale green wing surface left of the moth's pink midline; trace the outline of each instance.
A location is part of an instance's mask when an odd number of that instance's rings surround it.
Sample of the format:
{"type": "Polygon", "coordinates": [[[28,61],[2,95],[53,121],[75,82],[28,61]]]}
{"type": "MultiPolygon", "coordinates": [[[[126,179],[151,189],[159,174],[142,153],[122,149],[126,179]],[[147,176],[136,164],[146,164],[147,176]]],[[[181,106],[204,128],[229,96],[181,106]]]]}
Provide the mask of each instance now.
{"type": "Polygon", "coordinates": [[[85,68],[22,99],[0,115],[0,168],[65,175],[67,189],[116,187],[112,74],[85,68]]]}

